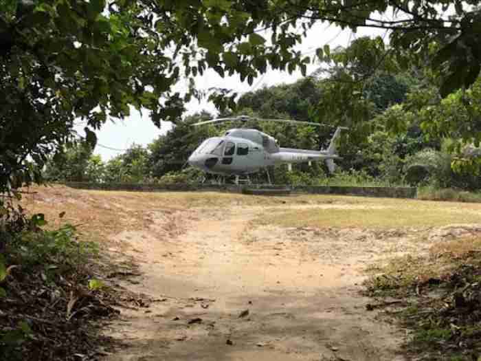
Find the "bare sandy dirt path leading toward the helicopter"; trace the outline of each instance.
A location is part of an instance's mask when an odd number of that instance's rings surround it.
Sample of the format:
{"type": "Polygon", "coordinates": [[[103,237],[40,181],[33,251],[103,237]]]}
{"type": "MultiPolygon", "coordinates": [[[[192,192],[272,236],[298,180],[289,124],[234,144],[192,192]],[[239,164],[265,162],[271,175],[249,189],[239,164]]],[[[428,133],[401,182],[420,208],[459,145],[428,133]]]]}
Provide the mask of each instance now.
{"type": "Polygon", "coordinates": [[[254,226],[269,209],[151,212],[115,235],[142,274],[124,286],[153,301],[122,309],[107,333],[126,347],[106,360],[404,360],[358,284],[415,235],[254,226]]]}

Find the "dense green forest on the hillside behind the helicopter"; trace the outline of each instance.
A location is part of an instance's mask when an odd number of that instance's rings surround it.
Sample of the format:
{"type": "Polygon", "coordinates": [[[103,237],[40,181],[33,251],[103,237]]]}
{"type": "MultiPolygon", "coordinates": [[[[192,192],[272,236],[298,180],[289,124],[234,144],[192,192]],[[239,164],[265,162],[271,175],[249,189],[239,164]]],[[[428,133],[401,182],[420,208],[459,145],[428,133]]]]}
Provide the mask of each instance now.
{"type": "MultiPolygon", "coordinates": [[[[372,56],[385,56],[388,49],[384,46],[379,38],[359,38],[346,49],[333,50],[334,60],[323,63],[313,75],[290,85],[247,92],[238,98],[235,109],[221,116],[247,114],[260,119],[320,122],[323,127],[319,129],[262,121],[247,124],[273,135],[281,146],[299,149],[324,148],[336,126],[350,127],[338,144],[344,159],[337,162],[334,175],[329,175],[322,163],[299,164],[292,172],[287,172],[287,167],[276,169],[277,183],[478,189],[479,151],[472,143],[460,141],[467,129],[455,124],[466,124],[465,119],[478,116],[480,80],[471,89],[460,89],[441,100],[438,79],[426,70],[414,66],[401,70],[386,58],[385,67],[373,68],[368,54],[351,60],[358,48],[369,50],[372,56]],[[336,62],[346,58],[346,65],[336,62]]],[[[201,175],[186,168],[190,153],[205,138],[240,126],[236,122],[190,126],[210,118],[214,115],[199,111],[176,122],[151,144],[133,144],[107,162],[93,155],[88,142],[73,142],[47,162],[45,177],[60,182],[197,182],[201,175]]],[[[470,127],[474,126],[471,123],[470,127]]]]}

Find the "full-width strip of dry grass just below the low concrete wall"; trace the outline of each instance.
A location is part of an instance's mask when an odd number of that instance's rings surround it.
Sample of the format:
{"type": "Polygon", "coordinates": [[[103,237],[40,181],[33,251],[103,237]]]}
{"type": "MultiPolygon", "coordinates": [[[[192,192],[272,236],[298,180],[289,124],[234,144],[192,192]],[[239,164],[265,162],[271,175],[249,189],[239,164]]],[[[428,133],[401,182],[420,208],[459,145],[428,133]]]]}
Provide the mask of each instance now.
{"type": "Polygon", "coordinates": [[[65,222],[78,224],[79,229],[88,231],[95,241],[122,230],[148,226],[151,222],[149,212],[190,208],[273,206],[274,209],[258,222],[287,227],[404,228],[481,223],[481,204],[454,202],[331,195],[259,197],[215,192],[116,192],[65,186],[30,190],[36,194],[26,195],[22,201],[29,212],[44,213],[52,228],[65,222]],[[282,209],[284,206],[290,209],[282,209]],[[58,217],[60,212],[65,212],[63,219],[58,217]]]}

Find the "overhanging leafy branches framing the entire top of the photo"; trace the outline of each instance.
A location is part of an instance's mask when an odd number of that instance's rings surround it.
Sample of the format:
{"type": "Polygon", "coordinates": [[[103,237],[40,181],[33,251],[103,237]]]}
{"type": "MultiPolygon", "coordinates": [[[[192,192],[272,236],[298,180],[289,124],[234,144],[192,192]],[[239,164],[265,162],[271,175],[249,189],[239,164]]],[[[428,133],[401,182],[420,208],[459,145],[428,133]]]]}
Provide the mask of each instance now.
{"type": "MultiPolygon", "coordinates": [[[[70,138],[76,118],[87,122],[94,144],[92,129],[128,116],[130,107],[147,109],[157,125],[178,120],[183,102],[199,96],[194,77],[208,68],[249,84],[269,67],[305,74],[312,59],[295,46],[317,21],[390,30],[385,54],[401,67],[429,65],[445,97],[480,72],[476,6],[474,0],[0,0],[0,190],[39,180],[26,160],[43,166],[70,138]],[[392,21],[377,15],[391,10],[392,21]],[[261,29],[269,30],[269,41],[261,29]],[[183,78],[190,88],[179,94],[174,86],[183,78]]],[[[371,57],[381,66],[388,58],[363,50],[359,43],[350,63],[371,57]]],[[[317,50],[319,58],[331,55],[328,46],[317,50]]],[[[228,89],[211,97],[221,109],[234,107],[228,89]]],[[[363,114],[358,100],[353,109],[363,114]]]]}

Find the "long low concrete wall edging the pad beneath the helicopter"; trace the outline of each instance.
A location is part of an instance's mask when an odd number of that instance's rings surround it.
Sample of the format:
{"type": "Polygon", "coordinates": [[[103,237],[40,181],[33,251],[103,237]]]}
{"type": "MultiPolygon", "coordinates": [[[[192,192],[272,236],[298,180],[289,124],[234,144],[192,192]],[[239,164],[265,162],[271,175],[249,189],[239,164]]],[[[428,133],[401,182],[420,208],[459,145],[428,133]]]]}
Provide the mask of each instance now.
{"type": "Polygon", "coordinates": [[[358,195],[364,197],[416,198],[417,189],[412,187],[351,187],[351,186],[236,186],[234,184],[128,184],[128,183],[80,183],[66,182],[66,186],[78,189],[128,190],[142,192],[188,192],[217,191],[256,195],[320,194],[358,195]]]}

